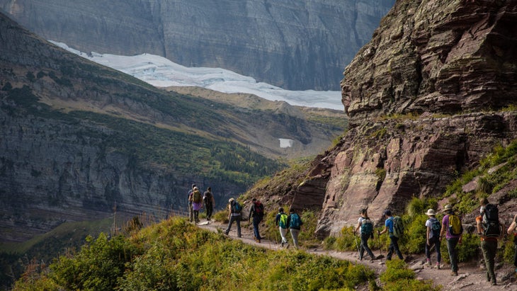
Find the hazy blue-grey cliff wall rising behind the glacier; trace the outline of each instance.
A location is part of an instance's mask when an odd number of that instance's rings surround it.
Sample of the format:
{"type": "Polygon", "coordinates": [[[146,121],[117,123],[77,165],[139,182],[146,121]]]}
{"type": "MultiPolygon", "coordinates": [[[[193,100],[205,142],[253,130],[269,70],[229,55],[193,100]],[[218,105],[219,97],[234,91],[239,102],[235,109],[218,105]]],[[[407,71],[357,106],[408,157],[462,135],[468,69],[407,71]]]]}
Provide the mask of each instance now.
{"type": "Polygon", "coordinates": [[[338,90],[343,67],[394,0],[1,0],[47,40],[83,52],[161,55],[284,89],[338,90]]]}

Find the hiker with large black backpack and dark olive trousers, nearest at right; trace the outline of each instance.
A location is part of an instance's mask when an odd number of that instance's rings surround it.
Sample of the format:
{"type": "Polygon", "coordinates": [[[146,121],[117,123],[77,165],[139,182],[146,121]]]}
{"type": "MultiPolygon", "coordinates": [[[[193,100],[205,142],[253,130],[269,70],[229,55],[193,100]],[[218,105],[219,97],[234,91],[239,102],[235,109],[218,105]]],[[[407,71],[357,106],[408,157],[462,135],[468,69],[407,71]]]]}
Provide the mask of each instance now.
{"type": "Polygon", "coordinates": [[[477,234],[481,239],[481,251],[487,267],[487,281],[497,285],[494,266],[496,263],[497,240],[501,238],[501,223],[497,206],[489,204],[487,198],[479,200],[479,216],[476,217],[477,234]]]}

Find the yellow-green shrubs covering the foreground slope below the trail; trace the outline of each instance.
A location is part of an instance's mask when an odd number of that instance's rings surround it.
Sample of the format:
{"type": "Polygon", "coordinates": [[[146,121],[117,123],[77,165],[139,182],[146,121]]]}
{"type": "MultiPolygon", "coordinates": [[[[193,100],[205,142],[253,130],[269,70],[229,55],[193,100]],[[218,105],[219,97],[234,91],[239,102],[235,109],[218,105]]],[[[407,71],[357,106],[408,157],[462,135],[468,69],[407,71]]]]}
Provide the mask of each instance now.
{"type": "MultiPolygon", "coordinates": [[[[37,265],[37,264],[35,264],[37,265]]],[[[108,239],[43,270],[28,269],[14,290],[353,290],[375,275],[329,256],[268,251],[171,218],[108,239]]]]}

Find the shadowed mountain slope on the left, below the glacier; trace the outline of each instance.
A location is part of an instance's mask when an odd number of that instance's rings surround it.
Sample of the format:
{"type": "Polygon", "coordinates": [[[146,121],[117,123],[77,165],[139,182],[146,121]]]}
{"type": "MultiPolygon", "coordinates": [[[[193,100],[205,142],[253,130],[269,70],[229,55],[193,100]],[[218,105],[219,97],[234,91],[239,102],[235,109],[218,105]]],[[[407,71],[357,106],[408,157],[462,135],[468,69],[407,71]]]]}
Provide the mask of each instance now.
{"type": "Polygon", "coordinates": [[[181,212],[191,183],[211,186],[222,207],[280,169],[279,156],[328,147],[343,131],[285,104],[249,110],[156,89],[50,45],[3,14],[0,52],[4,241],[107,217],[115,203],[120,215],[181,212]],[[278,138],[300,150],[281,149],[278,138]]]}

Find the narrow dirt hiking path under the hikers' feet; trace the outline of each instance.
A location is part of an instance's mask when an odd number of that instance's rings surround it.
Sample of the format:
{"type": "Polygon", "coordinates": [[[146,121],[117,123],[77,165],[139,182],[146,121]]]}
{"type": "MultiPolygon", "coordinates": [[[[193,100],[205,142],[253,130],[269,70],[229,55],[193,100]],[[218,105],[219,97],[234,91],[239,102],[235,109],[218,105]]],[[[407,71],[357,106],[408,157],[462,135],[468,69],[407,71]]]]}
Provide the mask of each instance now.
{"type": "MultiPolygon", "coordinates": [[[[246,222],[242,222],[241,234],[242,237],[237,237],[237,226],[232,225],[232,230],[229,232],[229,237],[232,239],[240,239],[245,244],[251,244],[254,246],[259,246],[266,249],[280,250],[285,249],[280,246],[277,241],[270,241],[267,239],[262,239],[261,243],[254,241],[253,229],[249,227],[246,222]]],[[[198,224],[198,227],[202,229],[207,229],[212,232],[217,232],[217,229],[224,230],[227,227],[227,224],[222,224],[220,222],[201,222],[198,224]]],[[[321,247],[305,249],[302,248],[307,253],[314,253],[317,255],[326,255],[334,258],[339,258],[341,260],[351,261],[352,263],[360,263],[364,266],[368,266],[372,270],[375,270],[375,273],[380,275],[385,269],[385,258],[380,260],[376,260],[370,262],[369,260],[359,261],[357,251],[327,251],[321,247]]],[[[378,250],[373,250],[375,255],[380,254],[378,250]]],[[[386,256],[386,253],[382,251],[382,254],[386,256]]],[[[431,256],[431,260],[436,259],[436,254],[433,253],[431,256]]],[[[486,272],[484,268],[480,268],[478,263],[460,263],[458,271],[458,276],[450,275],[450,265],[443,264],[440,270],[436,268],[432,268],[430,266],[425,266],[425,256],[409,256],[406,258],[407,264],[410,269],[414,270],[416,274],[416,278],[419,280],[431,280],[434,285],[443,286],[443,291],[448,290],[516,290],[517,291],[517,282],[515,282],[516,275],[513,266],[508,266],[505,264],[501,266],[498,270],[496,270],[497,275],[497,283],[498,285],[492,286],[489,282],[487,282],[486,272]]],[[[496,262],[496,266],[497,266],[496,262]]],[[[412,291],[412,290],[407,290],[412,291]]]]}

